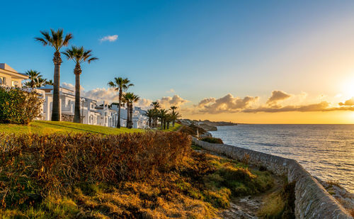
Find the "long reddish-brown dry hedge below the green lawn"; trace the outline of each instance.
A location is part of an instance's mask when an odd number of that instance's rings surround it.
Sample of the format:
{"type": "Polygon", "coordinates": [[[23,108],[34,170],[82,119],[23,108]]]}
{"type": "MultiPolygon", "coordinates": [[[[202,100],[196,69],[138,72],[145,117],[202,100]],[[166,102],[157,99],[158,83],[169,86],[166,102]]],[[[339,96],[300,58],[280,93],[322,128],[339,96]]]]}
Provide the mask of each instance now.
{"type": "Polygon", "coordinates": [[[16,206],[81,181],[115,183],[168,171],[190,153],[190,137],[175,132],[0,134],[0,146],[0,201],[16,206]]]}

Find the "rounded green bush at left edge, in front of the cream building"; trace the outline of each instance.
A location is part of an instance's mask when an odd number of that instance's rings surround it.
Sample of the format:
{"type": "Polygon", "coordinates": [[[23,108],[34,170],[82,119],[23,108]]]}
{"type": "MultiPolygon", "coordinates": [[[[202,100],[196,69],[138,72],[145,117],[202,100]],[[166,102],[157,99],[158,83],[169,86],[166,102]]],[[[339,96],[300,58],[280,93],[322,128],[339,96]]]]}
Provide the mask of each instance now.
{"type": "Polygon", "coordinates": [[[35,91],[0,86],[0,123],[28,124],[40,116],[41,105],[35,91]]]}

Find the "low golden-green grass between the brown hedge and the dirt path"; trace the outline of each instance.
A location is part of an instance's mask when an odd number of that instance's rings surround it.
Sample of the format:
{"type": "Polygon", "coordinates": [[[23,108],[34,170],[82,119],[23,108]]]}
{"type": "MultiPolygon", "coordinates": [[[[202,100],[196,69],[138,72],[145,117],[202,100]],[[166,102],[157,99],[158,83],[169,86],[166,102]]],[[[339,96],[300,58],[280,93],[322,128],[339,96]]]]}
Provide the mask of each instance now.
{"type": "Polygon", "coordinates": [[[0,209],[2,218],[219,218],[232,196],[261,193],[273,186],[270,172],[192,151],[171,171],[119,183],[81,181],[66,193],[0,209]]]}

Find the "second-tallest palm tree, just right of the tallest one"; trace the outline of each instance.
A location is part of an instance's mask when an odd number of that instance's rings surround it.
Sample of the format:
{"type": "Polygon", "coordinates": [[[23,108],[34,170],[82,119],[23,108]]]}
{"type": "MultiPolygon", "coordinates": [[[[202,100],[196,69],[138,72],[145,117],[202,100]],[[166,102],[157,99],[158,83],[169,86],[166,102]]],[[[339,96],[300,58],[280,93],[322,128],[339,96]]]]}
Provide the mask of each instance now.
{"type": "Polygon", "coordinates": [[[85,50],[84,47],[72,46],[71,49],[62,52],[68,60],[74,60],[75,68],[75,110],[74,110],[74,123],[81,122],[80,116],[80,74],[81,64],[84,62],[91,63],[94,60],[98,60],[96,57],[92,57],[91,50],[85,50]]]}

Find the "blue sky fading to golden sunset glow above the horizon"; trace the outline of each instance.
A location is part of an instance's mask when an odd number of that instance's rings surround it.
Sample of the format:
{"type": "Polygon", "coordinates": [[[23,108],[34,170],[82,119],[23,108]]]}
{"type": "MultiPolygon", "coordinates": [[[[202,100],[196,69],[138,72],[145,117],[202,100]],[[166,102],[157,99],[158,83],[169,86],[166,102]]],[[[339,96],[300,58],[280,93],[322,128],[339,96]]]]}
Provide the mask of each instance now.
{"type": "MultiPolygon", "coordinates": [[[[52,79],[53,49],[34,40],[63,28],[83,64],[83,94],[116,101],[107,83],[178,106],[183,118],[236,123],[354,123],[354,1],[6,1],[0,62],[52,79]]],[[[66,49],[66,48],[64,48],[66,49]]],[[[73,88],[63,58],[61,84],[73,88]]]]}

